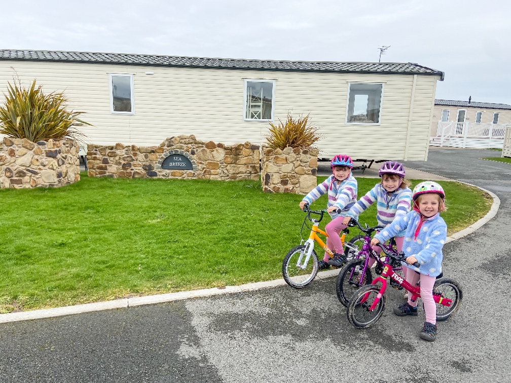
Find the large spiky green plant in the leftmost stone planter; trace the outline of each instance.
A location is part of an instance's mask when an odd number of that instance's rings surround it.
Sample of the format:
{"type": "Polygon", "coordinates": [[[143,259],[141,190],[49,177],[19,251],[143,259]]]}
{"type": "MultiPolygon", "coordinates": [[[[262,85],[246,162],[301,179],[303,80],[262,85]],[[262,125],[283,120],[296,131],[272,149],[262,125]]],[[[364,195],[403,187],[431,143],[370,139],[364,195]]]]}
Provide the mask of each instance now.
{"type": "Polygon", "coordinates": [[[0,133],[14,138],[27,138],[32,142],[84,137],[76,127],[90,125],[78,118],[84,112],[66,109],[63,93],[44,94],[42,85],[36,88],[35,80],[30,89],[21,83],[9,83],[9,94],[0,106],[0,133]]]}

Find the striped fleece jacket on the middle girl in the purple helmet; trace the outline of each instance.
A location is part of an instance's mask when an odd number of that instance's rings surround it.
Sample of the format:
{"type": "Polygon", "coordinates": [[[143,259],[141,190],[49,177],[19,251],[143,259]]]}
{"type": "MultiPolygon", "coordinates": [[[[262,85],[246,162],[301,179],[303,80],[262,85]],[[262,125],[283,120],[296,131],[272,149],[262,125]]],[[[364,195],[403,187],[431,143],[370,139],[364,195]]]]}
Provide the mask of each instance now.
{"type": "MultiPolygon", "coordinates": [[[[405,216],[410,211],[412,200],[412,191],[398,188],[390,196],[381,183],[369,190],[347,213],[348,216],[357,218],[362,211],[376,202],[376,219],[379,225],[388,225],[394,219],[405,216]]],[[[396,236],[402,237],[405,231],[396,236]]]]}

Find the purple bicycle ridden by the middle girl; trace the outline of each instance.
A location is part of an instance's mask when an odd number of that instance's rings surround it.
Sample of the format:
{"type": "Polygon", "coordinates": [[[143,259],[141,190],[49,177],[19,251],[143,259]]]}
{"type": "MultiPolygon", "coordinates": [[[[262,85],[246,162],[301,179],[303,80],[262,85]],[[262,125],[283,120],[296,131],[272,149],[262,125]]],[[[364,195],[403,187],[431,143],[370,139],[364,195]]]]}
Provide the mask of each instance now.
{"type": "MultiPolygon", "coordinates": [[[[375,273],[381,275],[383,272],[383,268],[385,264],[389,261],[389,256],[385,257],[385,261],[380,259],[380,256],[376,254],[373,248],[370,245],[371,235],[375,231],[379,231],[383,229],[385,226],[375,226],[368,227],[367,224],[365,228],[360,225],[360,223],[351,219],[348,226],[358,226],[358,228],[364,233],[359,234],[358,237],[352,238],[353,243],[360,243],[361,249],[356,254],[353,255],[353,259],[348,261],[337,276],[337,282],[335,284],[335,292],[337,293],[337,298],[339,302],[345,307],[348,306],[352,295],[358,291],[363,285],[371,284],[373,282],[373,274],[371,272],[371,268],[369,267],[369,259],[373,258],[376,260],[375,273]]],[[[350,241],[350,243],[352,242],[350,241]]],[[[385,249],[390,252],[390,254],[398,254],[396,250],[396,242],[394,238],[390,238],[388,245],[382,245],[385,249]]],[[[402,273],[401,267],[396,267],[392,269],[394,272],[400,274],[402,273]]],[[[391,282],[391,286],[394,289],[402,290],[403,286],[400,286],[398,283],[391,282]]]]}

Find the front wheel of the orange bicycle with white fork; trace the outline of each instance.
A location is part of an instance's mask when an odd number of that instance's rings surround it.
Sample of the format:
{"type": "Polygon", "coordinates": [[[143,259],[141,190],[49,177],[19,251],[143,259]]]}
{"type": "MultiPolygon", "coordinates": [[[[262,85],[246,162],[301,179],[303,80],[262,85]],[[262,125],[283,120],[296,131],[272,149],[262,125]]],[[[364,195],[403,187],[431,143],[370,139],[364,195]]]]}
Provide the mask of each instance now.
{"type": "Polygon", "coordinates": [[[303,289],[311,283],[318,273],[318,256],[312,250],[311,257],[304,268],[305,245],[293,247],[282,262],[282,276],[287,284],[295,289],[303,289]],[[301,256],[301,259],[300,259],[301,256]],[[298,264],[299,262],[299,264],[298,264]]]}

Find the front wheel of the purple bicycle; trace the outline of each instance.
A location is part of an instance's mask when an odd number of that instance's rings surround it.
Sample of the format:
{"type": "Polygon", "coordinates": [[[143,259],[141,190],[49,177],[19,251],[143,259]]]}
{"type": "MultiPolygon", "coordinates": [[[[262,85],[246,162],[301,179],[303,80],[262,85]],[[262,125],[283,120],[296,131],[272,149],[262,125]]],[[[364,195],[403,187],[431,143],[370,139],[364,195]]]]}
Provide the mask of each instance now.
{"type": "Polygon", "coordinates": [[[350,298],[358,289],[365,284],[373,282],[373,275],[371,274],[370,268],[367,268],[365,274],[362,275],[364,262],[364,258],[348,261],[337,276],[335,292],[337,293],[339,302],[341,302],[344,307],[348,306],[350,298]]]}

